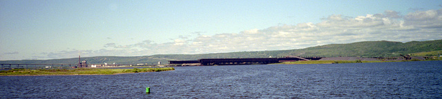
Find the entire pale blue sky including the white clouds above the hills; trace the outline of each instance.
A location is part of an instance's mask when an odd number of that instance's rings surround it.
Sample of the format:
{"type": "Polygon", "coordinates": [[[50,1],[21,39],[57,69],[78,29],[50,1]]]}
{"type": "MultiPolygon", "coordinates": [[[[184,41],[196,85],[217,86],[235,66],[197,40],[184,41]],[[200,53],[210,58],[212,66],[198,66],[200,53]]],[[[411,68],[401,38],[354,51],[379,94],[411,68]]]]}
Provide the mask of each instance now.
{"type": "Polygon", "coordinates": [[[0,61],[439,39],[440,0],[0,0],[0,61]]]}

